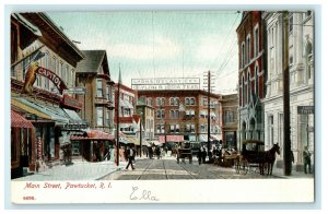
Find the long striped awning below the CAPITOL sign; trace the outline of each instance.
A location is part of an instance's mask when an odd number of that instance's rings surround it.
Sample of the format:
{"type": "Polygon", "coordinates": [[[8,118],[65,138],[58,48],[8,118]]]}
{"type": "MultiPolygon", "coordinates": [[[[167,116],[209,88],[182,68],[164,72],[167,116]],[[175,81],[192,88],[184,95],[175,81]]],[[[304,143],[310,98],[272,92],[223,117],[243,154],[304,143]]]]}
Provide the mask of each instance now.
{"type": "Polygon", "coordinates": [[[39,104],[37,102],[30,102],[23,97],[12,97],[11,105],[16,106],[40,118],[54,120],[56,124],[69,123],[69,119],[66,117],[66,114],[61,108],[39,104]]]}

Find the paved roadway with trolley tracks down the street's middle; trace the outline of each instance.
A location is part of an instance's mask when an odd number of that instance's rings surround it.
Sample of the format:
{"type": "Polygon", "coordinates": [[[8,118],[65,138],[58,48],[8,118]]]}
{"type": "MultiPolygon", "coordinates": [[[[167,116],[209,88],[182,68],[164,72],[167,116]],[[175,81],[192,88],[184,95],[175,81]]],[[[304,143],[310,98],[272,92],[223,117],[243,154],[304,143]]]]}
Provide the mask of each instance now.
{"type": "MultiPolygon", "coordinates": [[[[125,166],[124,166],[125,167],[125,166]]],[[[274,176],[260,176],[250,169],[247,175],[236,174],[234,168],[214,166],[213,164],[198,165],[197,159],[192,164],[177,164],[174,158],[164,159],[138,159],[126,170],[114,171],[102,180],[172,180],[172,179],[255,179],[278,178],[274,176]]]]}

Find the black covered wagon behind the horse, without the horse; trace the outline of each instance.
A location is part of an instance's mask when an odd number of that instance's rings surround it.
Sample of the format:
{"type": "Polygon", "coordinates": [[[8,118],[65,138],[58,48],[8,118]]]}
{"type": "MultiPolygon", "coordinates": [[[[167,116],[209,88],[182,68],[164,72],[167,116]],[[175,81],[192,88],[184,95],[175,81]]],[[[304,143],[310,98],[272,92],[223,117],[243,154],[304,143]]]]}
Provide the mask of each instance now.
{"type": "Polygon", "coordinates": [[[255,171],[260,168],[263,152],[265,142],[259,140],[244,141],[241,154],[234,159],[236,173],[246,175],[250,168],[255,168],[255,171]]]}

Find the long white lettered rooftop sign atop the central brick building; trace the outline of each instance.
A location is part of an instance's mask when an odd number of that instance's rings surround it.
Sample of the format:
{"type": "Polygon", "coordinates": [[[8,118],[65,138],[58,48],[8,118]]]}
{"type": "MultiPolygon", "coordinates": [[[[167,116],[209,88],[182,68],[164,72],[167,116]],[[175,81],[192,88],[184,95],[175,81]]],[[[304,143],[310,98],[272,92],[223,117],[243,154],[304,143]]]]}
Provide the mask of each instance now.
{"type": "Polygon", "coordinates": [[[132,79],[131,87],[136,91],[160,90],[199,90],[199,78],[161,78],[161,79],[132,79]]]}

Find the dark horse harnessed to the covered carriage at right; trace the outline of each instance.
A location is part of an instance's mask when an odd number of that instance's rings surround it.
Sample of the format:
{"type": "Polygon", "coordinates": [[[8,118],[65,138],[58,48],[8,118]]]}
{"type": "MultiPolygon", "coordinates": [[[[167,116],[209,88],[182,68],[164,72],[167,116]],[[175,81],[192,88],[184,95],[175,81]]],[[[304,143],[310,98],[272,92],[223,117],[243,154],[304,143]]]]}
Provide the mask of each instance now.
{"type": "Polygon", "coordinates": [[[259,153],[259,170],[260,175],[265,175],[265,167],[267,166],[268,176],[272,176],[272,168],[276,162],[276,153],[280,155],[280,146],[273,144],[273,146],[269,151],[260,152],[259,153]]]}

